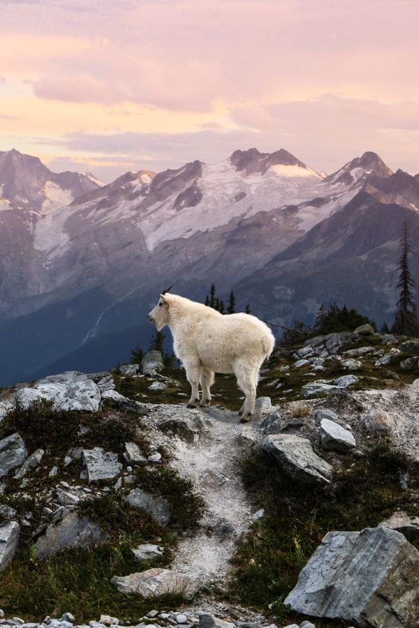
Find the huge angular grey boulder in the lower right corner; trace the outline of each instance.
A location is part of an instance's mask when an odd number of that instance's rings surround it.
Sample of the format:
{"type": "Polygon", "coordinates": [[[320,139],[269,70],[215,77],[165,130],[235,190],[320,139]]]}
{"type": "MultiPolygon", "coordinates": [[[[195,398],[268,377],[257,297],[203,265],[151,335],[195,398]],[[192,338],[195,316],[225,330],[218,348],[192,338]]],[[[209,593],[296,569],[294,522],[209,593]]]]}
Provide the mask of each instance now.
{"type": "Polygon", "coordinates": [[[284,604],[360,626],[418,626],[419,552],[395,530],[328,532],[284,604]]]}

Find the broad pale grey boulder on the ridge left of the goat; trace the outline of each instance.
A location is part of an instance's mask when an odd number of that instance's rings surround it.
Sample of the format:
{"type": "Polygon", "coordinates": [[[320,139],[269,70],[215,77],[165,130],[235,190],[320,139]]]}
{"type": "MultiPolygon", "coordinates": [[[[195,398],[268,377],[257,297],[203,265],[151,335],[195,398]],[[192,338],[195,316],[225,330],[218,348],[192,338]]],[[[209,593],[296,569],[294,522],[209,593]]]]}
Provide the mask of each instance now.
{"type": "Polygon", "coordinates": [[[54,402],[55,410],[87,410],[96,412],[101,391],[93,380],[78,371],[50,375],[35,382],[33,388],[21,388],[16,393],[17,408],[29,408],[39,399],[54,402]]]}

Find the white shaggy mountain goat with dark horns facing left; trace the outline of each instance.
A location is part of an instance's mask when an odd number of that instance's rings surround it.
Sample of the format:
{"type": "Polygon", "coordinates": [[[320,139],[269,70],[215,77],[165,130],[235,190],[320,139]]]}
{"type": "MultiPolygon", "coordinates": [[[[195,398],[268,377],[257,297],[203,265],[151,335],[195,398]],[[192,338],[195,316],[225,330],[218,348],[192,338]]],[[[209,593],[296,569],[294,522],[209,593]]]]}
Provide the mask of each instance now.
{"type": "Polygon", "coordinates": [[[170,327],[173,348],[191,384],[188,408],[208,406],[214,372],[235,373],[246,398],[240,409],[242,421],[253,414],[260,366],[274,348],[269,327],[250,314],[223,315],[213,308],[177,294],[163,292],[147,315],[158,331],[170,327]],[[198,383],[203,394],[199,400],[198,383]]]}

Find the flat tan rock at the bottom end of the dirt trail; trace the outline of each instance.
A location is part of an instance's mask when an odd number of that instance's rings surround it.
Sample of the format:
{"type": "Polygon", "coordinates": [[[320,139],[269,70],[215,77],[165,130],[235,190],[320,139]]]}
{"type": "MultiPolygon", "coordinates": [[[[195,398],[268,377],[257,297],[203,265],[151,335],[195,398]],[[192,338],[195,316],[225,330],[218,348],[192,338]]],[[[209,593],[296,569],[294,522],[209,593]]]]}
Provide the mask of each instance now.
{"type": "Polygon", "coordinates": [[[196,581],[169,569],[147,569],[130,576],[114,576],[111,582],[121,593],[137,593],[145,598],[182,593],[186,599],[192,599],[198,590],[196,581]]]}

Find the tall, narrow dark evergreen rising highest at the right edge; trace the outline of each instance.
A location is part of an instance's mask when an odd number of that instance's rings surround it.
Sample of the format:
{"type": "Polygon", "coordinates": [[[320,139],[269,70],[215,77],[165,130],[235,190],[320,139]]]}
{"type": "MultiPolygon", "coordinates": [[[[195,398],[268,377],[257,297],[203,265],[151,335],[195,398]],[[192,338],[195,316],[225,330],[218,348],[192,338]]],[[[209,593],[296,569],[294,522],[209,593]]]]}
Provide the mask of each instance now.
{"type": "Polygon", "coordinates": [[[400,236],[400,246],[402,253],[399,257],[399,281],[397,287],[400,290],[400,297],[397,301],[397,311],[395,313],[395,322],[391,328],[392,334],[400,334],[402,336],[419,336],[418,313],[416,304],[413,300],[413,288],[416,283],[413,280],[411,270],[409,268],[409,255],[412,253],[409,225],[404,220],[402,234],[400,236]]]}

